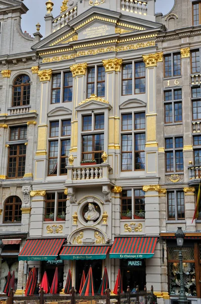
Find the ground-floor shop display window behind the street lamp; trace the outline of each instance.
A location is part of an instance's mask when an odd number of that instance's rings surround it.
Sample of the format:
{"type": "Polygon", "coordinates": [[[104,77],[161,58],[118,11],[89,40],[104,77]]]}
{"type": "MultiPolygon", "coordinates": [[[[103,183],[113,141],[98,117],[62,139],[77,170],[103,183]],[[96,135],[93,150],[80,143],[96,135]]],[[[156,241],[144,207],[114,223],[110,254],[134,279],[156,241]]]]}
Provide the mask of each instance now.
{"type": "MultiPolygon", "coordinates": [[[[194,247],[183,247],[183,279],[187,296],[196,296],[194,247]]],[[[178,247],[168,248],[169,294],[178,296],[180,291],[180,269],[178,247]]]]}

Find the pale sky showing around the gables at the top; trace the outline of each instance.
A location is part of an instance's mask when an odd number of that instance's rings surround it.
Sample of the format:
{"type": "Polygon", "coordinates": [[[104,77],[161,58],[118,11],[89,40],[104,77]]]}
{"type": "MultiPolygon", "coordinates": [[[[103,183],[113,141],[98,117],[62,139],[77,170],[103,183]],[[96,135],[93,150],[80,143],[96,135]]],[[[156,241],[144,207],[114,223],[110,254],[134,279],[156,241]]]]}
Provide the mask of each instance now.
{"type": "MultiPolygon", "coordinates": [[[[45,2],[47,0],[24,0],[24,4],[27,6],[29,11],[26,15],[22,15],[22,31],[25,30],[31,34],[36,32],[35,25],[39,22],[41,25],[40,33],[44,35],[44,16],[46,14],[45,2]]],[[[60,7],[62,0],[52,0],[54,3],[53,16],[57,17],[60,14],[60,7]]],[[[112,1],[112,0],[110,0],[112,1]]],[[[162,12],[166,15],[173,7],[174,0],[156,0],[156,13],[162,12]]]]}

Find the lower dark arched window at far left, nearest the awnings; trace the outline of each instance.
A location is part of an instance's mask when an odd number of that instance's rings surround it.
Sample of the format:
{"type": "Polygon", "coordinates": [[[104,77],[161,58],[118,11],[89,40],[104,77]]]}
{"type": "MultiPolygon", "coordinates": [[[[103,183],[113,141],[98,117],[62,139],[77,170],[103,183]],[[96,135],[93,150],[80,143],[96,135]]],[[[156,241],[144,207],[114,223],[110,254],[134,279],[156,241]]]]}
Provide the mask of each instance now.
{"type": "Polygon", "coordinates": [[[21,222],[22,220],[22,201],[17,196],[7,199],[4,207],[4,222],[21,222]]]}

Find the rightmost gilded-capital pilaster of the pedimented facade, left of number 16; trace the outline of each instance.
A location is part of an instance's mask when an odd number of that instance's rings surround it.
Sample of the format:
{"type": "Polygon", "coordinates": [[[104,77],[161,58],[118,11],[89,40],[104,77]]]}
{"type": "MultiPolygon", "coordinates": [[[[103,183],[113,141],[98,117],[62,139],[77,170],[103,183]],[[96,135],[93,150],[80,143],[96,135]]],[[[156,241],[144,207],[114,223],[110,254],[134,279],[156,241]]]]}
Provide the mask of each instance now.
{"type": "Polygon", "coordinates": [[[163,61],[163,53],[142,55],[146,67],[146,144],[145,170],[148,174],[158,172],[158,142],[156,138],[156,67],[163,61]]]}

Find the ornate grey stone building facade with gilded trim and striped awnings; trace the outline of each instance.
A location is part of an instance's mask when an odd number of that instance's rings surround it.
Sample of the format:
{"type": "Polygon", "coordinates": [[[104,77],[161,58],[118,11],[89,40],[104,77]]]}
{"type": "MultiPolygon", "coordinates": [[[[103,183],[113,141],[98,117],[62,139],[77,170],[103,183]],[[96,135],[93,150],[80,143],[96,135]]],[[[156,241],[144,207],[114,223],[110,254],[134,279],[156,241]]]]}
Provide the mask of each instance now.
{"type": "Polygon", "coordinates": [[[21,0],[0,0],[1,289],[23,292],[33,266],[50,283],[68,270],[79,290],[92,265],[113,290],[154,285],[179,295],[174,233],[186,233],[183,272],[199,302],[200,2],[63,1],[45,37],[22,33],[21,0]],[[16,52],[16,50],[19,50],[16,52]]]}

